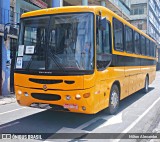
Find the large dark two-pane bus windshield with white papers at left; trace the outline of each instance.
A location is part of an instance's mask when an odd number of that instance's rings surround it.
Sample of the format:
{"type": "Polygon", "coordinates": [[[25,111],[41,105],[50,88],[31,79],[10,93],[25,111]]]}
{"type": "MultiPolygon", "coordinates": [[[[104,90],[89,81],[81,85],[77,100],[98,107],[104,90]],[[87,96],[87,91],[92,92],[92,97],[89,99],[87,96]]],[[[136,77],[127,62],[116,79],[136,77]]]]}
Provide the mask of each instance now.
{"type": "Polygon", "coordinates": [[[15,68],[93,72],[93,16],[79,13],[22,19],[15,68]]]}

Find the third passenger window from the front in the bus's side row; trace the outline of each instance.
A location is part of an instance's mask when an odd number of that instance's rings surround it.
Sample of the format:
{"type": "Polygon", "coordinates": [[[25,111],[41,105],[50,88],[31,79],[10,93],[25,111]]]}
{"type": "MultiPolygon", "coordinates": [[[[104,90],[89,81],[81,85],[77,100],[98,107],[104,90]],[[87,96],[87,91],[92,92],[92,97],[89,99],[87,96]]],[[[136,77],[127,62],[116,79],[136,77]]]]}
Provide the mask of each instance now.
{"type": "Polygon", "coordinates": [[[134,48],[135,48],[135,53],[140,54],[140,34],[135,32],[134,33],[134,48]]]}

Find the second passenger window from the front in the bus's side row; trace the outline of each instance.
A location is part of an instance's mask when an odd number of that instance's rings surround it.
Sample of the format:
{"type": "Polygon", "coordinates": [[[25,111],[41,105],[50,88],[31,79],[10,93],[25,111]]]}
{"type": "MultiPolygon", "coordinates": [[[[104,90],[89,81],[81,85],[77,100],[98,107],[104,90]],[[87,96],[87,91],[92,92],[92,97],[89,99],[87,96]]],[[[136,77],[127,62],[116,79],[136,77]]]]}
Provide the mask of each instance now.
{"type": "Polygon", "coordinates": [[[127,52],[133,52],[133,30],[128,26],[125,27],[125,49],[127,52]]]}

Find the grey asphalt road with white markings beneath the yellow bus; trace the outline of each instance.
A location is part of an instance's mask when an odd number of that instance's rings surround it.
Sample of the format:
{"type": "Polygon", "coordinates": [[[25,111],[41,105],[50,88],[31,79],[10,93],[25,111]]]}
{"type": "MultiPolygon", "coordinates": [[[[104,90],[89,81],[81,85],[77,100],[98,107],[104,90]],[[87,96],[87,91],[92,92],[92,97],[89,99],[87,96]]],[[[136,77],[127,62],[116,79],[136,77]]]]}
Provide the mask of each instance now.
{"type": "MultiPolygon", "coordinates": [[[[160,72],[150,85],[149,92],[139,91],[120,103],[117,115],[101,111],[95,115],[53,112],[21,107],[17,103],[0,105],[0,133],[49,133],[45,141],[113,141],[159,142],[155,139],[87,139],[112,133],[160,133],[160,72]],[[52,139],[57,133],[71,133],[72,139],[52,139]],[[76,135],[74,133],[81,133],[76,135]],[[85,133],[87,133],[85,135],[85,133]],[[96,135],[99,133],[100,135],[96,135]],[[102,134],[103,133],[103,134],[102,134]],[[74,138],[81,138],[76,140],[74,138]]],[[[117,136],[117,135],[116,135],[117,136]]],[[[63,138],[63,135],[61,136],[63,138]]],[[[114,137],[114,135],[113,135],[114,137]]],[[[9,141],[9,140],[0,140],[9,141]]],[[[21,140],[12,141],[42,141],[21,140]]],[[[43,140],[44,141],[44,140],[43,140]]]]}

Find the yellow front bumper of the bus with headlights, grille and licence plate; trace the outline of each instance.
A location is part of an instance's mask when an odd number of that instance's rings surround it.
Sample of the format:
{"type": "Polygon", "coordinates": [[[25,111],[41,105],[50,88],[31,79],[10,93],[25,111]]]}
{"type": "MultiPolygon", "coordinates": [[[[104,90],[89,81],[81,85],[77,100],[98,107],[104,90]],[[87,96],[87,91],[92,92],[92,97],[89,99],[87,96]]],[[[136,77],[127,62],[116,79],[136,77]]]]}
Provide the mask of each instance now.
{"type": "Polygon", "coordinates": [[[85,90],[44,91],[15,86],[15,94],[17,102],[22,106],[86,114],[97,112],[97,105],[93,96],[94,87],[85,90]]]}

